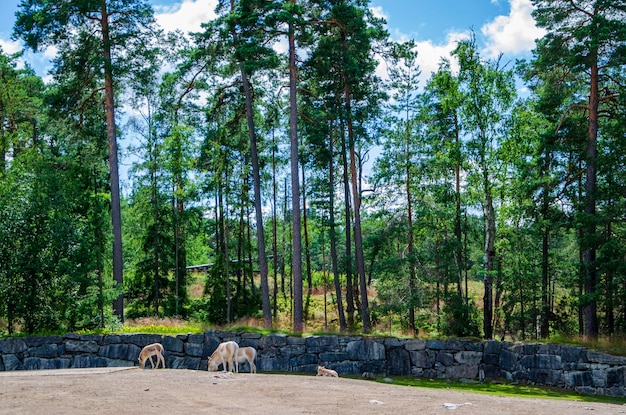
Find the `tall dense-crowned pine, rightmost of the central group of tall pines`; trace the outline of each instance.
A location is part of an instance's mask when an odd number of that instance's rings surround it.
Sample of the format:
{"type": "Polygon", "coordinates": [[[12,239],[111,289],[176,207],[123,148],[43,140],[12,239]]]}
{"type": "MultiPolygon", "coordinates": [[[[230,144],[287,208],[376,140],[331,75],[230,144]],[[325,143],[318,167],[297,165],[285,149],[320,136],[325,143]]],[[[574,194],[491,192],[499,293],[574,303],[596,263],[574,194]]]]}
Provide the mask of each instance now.
{"type": "MultiPolygon", "coordinates": [[[[361,225],[361,186],[360,160],[357,146],[366,146],[367,122],[376,118],[380,111],[380,101],[384,92],[380,79],[375,74],[376,60],[373,48],[377,42],[386,39],[383,21],[374,17],[364,1],[321,1],[322,12],[319,19],[320,38],[311,54],[311,62],[318,71],[331,75],[330,88],[333,89],[341,106],[338,113],[345,125],[346,176],[349,177],[351,203],[354,214],[353,232],[355,244],[355,265],[359,278],[360,312],[363,331],[369,332],[369,306],[367,280],[363,257],[363,234],[361,225]],[[330,66],[330,67],[329,67],[330,66]]],[[[343,133],[343,132],[342,132],[343,133]]],[[[346,205],[347,206],[347,205],[346,205]]],[[[349,218],[348,209],[346,217],[349,218]]],[[[346,232],[349,229],[346,220],[346,232]]],[[[349,245],[349,242],[346,244],[349,245]]],[[[348,301],[350,306],[350,301],[348,301]]]]}

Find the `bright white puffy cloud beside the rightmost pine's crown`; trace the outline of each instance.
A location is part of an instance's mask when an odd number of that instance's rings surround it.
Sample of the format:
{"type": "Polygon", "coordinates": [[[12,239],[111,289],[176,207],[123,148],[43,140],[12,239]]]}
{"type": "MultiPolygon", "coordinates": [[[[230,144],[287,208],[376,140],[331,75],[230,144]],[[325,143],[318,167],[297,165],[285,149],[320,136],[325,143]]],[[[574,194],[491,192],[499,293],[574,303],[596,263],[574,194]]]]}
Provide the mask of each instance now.
{"type": "Polygon", "coordinates": [[[481,28],[487,38],[486,55],[496,57],[501,53],[519,55],[535,47],[535,39],[545,31],[535,25],[531,16],[531,0],[510,0],[511,12],[508,16],[498,16],[493,22],[481,28]]]}

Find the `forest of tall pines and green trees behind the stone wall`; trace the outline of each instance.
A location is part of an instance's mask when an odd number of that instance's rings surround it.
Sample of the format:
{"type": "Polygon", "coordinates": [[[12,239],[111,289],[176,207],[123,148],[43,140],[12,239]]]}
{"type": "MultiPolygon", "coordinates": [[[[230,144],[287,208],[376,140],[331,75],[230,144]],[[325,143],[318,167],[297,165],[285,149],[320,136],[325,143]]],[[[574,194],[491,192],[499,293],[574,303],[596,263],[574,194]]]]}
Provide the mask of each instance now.
{"type": "Polygon", "coordinates": [[[421,85],[368,0],[220,0],[198,33],[22,0],[56,56],[0,50],[0,334],[624,335],[626,1],[532,3],[531,59],[470,36],[421,85]]]}

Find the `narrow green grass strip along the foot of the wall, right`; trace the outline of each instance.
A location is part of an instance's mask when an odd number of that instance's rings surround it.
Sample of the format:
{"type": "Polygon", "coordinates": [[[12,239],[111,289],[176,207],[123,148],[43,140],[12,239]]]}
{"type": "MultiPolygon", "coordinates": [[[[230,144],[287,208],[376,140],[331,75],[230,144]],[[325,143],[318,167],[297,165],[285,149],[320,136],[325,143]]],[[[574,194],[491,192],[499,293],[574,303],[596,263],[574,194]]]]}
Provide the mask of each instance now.
{"type": "MultiPolygon", "coordinates": [[[[509,382],[461,382],[446,379],[423,379],[413,377],[388,376],[393,379],[394,385],[411,386],[430,389],[449,389],[460,392],[482,393],[486,395],[511,396],[538,399],[564,399],[579,402],[600,402],[616,405],[626,405],[626,398],[611,396],[584,395],[572,390],[559,389],[556,387],[536,386],[522,383],[509,382]]],[[[383,378],[378,382],[386,383],[383,378]]]]}

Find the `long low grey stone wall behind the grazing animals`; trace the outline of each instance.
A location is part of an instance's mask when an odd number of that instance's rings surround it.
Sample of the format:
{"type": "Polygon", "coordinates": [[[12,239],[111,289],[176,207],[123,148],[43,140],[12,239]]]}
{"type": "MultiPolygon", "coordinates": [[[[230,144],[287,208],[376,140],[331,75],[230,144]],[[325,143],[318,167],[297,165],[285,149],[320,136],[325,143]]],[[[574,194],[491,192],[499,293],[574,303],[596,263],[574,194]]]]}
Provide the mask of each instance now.
{"type": "MultiPolygon", "coordinates": [[[[134,366],[143,346],[161,342],[168,368],[207,369],[220,342],[258,350],[266,372],[314,373],[324,365],[340,375],[403,375],[445,379],[497,379],[626,396],[626,358],[584,347],[551,344],[420,340],[362,336],[296,337],[207,331],[203,334],[37,336],[0,339],[0,371],[134,366]]],[[[149,365],[148,365],[149,366],[149,365]]],[[[247,364],[241,371],[248,371],[247,364]]]]}

